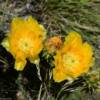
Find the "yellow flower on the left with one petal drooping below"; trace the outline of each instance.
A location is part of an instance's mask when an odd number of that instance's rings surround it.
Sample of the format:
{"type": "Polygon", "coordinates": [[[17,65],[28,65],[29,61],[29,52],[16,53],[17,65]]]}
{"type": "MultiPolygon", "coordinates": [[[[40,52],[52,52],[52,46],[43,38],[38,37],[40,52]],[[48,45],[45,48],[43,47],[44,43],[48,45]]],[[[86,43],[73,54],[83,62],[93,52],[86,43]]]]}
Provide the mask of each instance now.
{"type": "Polygon", "coordinates": [[[35,19],[14,18],[11,30],[2,45],[15,58],[15,69],[21,71],[26,65],[26,58],[34,61],[43,48],[46,30],[35,19]]]}

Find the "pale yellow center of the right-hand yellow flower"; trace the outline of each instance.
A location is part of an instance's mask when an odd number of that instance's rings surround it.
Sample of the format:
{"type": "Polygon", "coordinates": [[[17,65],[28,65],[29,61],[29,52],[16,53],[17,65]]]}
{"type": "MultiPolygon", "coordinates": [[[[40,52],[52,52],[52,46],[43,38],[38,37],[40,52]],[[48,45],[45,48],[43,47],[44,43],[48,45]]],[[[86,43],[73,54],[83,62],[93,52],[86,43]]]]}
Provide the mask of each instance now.
{"type": "Polygon", "coordinates": [[[72,53],[63,55],[63,63],[65,67],[74,67],[79,64],[79,59],[72,53]]]}

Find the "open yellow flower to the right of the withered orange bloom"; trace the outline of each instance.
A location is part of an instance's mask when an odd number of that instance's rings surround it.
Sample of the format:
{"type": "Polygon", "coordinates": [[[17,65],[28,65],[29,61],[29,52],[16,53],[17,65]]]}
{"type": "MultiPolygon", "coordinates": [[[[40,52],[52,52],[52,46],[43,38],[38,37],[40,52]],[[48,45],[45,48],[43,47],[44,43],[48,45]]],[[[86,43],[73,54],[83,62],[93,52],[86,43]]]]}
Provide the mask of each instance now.
{"type": "Polygon", "coordinates": [[[78,33],[69,33],[62,48],[54,57],[53,79],[55,82],[61,82],[86,73],[93,63],[92,56],[91,45],[87,42],[83,43],[78,33]]]}

